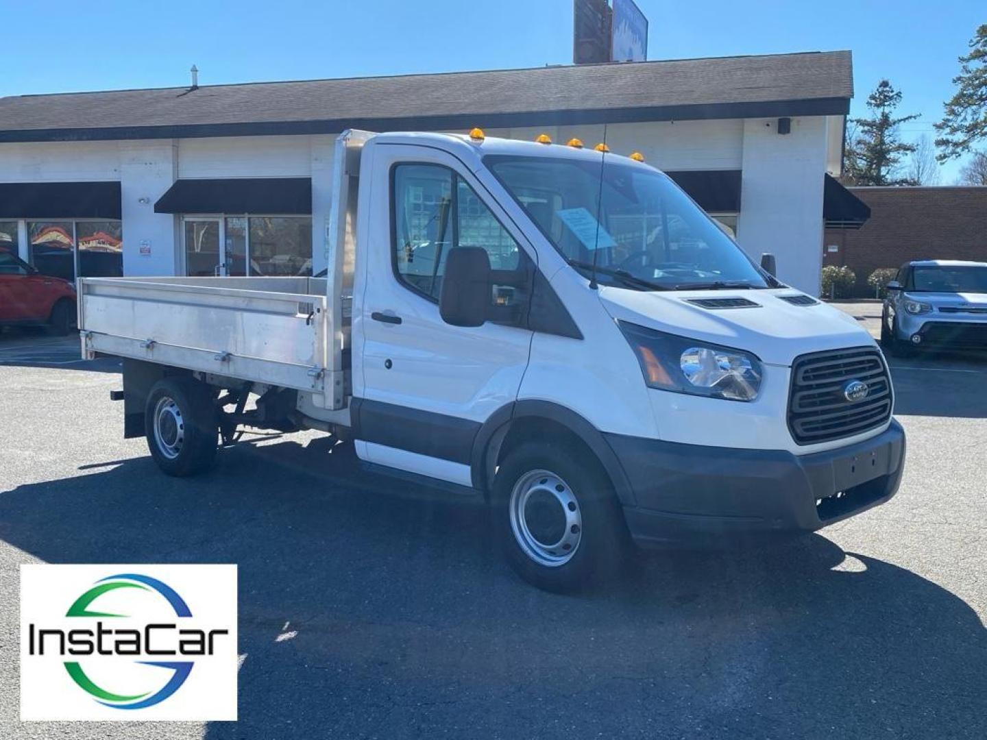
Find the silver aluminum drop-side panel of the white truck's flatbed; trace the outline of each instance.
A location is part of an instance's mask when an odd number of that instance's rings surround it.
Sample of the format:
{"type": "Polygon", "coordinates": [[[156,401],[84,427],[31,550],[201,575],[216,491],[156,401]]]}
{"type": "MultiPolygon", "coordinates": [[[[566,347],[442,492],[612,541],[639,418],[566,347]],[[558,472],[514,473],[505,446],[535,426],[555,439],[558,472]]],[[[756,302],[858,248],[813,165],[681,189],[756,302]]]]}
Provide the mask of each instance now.
{"type": "Polygon", "coordinates": [[[323,393],[326,281],[294,277],[79,280],[87,356],[103,352],[323,393]]]}

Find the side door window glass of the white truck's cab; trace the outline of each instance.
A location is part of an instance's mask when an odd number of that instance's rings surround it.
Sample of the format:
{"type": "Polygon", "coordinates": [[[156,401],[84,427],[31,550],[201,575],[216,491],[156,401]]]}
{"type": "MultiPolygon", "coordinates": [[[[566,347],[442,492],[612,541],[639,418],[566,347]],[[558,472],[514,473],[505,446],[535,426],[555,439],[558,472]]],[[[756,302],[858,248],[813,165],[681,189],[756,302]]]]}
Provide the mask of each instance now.
{"type": "Polygon", "coordinates": [[[514,270],[520,248],[476,191],[441,165],[396,165],[391,175],[395,274],[430,301],[454,247],[480,247],[493,270],[514,270]]]}

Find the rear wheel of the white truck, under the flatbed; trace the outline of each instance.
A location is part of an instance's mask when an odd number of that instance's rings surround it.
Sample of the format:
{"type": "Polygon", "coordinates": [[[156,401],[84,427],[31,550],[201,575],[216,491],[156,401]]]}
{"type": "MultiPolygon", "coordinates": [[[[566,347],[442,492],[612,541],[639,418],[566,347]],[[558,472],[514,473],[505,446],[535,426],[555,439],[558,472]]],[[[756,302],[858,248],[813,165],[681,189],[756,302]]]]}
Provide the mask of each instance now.
{"type": "Polygon", "coordinates": [[[190,377],[159,380],[147,397],[144,434],[151,457],[169,476],[194,476],[211,468],[219,416],[209,387],[190,377]]]}

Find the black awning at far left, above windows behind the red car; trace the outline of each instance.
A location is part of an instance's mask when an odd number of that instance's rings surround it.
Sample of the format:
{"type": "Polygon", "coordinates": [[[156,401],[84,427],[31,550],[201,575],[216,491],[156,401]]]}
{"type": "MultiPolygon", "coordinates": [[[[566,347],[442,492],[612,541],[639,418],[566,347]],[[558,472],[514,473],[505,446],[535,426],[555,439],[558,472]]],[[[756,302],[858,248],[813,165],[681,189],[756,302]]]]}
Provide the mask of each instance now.
{"type": "Polygon", "coordinates": [[[119,217],[119,183],[0,183],[0,218],[119,217]]]}

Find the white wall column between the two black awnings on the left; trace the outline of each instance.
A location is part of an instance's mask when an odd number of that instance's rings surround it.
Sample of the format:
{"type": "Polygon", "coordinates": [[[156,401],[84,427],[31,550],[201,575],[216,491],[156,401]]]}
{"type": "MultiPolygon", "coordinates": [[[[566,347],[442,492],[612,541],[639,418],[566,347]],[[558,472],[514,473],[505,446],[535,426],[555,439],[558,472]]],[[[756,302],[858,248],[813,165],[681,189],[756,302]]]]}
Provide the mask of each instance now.
{"type": "Polygon", "coordinates": [[[177,218],[154,212],[154,203],[178,178],[178,147],[173,139],[121,141],[119,147],[123,274],[178,274],[177,218]]]}

